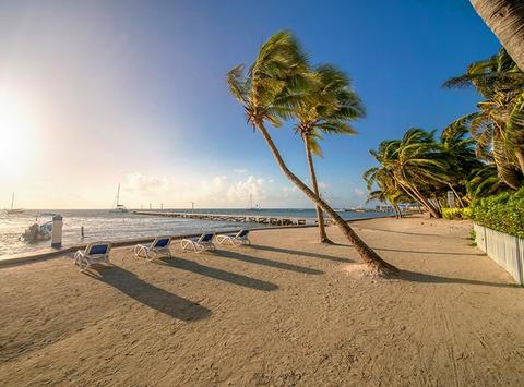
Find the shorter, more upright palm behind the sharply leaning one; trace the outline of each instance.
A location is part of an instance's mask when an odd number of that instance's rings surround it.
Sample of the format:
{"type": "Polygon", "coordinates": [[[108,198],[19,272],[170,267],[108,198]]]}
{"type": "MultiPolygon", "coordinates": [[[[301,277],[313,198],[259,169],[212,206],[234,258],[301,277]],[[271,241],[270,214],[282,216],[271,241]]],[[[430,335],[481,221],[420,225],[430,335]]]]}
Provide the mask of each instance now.
{"type": "MultiPolygon", "coordinates": [[[[350,81],[342,71],[330,64],[319,65],[312,76],[309,96],[294,111],[298,119],[297,133],[303,141],[313,192],[320,196],[312,154],[322,157],[319,140],[323,134],[355,134],[348,121],[365,117],[365,108],[350,81]]],[[[325,233],[324,216],[317,206],[320,240],[333,243],[325,233]]]]}

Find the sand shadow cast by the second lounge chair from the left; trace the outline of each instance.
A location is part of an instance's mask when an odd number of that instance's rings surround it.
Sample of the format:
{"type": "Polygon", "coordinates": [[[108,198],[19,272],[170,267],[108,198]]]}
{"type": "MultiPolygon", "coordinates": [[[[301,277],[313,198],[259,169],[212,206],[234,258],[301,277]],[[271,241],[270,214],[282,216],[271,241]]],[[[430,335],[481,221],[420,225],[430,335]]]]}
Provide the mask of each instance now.
{"type": "Polygon", "coordinates": [[[219,279],[222,281],[239,285],[246,288],[263,291],[273,291],[278,289],[278,286],[275,283],[262,281],[260,279],[242,276],[230,271],[221,270],[214,267],[204,266],[193,261],[187,261],[183,258],[160,258],[156,262],[160,265],[166,265],[169,267],[200,274],[202,276],[219,279]]]}

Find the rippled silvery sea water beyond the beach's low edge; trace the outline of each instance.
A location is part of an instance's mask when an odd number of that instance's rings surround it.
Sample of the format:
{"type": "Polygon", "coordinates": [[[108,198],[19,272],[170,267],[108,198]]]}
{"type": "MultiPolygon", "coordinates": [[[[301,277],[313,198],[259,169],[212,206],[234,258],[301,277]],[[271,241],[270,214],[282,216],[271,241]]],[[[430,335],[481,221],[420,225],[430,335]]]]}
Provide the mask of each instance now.
{"type": "MultiPolygon", "coordinates": [[[[144,209],[145,210],[145,209],[144,209]]],[[[202,209],[153,209],[154,211],[188,211],[202,214],[231,214],[267,217],[315,218],[314,209],[274,208],[249,210],[243,208],[202,208],[202,209]]],[[[217,220],[180,219],[135,215],[132,213],[115,214],[107,209],[32,209],[23,214],[7,215],[0,213],[0,257],[34,252],[50,246],[50,241],[27,243],[20,240],[24,230],[33,225],[38,214],[61,214],[63,217],[64,246],[99,240],[124,240],[163,234],[182,235],[206,230],[230,231],[239,228],[264,227],[260,223],[237,223],[217,220]],[[81,227],[85,238],[81,238],[81,227]]],[[[388,213],[349,213],[341,211],[344,219],[358,219],[389,216],[388,213]]],[[[38,222],[51,220],[51,216],[41,216],[38,222]]]]}

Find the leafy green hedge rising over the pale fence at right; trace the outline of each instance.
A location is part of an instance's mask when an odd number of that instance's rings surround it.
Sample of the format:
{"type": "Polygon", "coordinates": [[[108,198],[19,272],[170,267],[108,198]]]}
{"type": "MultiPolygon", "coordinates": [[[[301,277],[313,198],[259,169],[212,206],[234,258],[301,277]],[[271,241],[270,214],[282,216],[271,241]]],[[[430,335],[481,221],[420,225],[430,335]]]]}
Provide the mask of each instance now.
{"type": "Polygon", "coordinates": [[[524,186],[472,204],[472,219],[492,230],[524,238],[524,186]]]}

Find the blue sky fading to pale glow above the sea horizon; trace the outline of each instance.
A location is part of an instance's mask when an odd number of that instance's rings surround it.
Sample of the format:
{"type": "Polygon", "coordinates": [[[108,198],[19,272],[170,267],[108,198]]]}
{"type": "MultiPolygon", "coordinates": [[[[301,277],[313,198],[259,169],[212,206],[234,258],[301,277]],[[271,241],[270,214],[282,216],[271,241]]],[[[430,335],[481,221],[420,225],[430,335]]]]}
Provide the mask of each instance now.
{"type": "MultiPolygon", "coordinates": [[[[312,207],[246,124],[225,74],[290,29],[347,72],[367,108],[315,158],[334,207],[366,202],[369,149],[474,111],[442,83],[500,44],[468,1],[0,2],[0,208],[312,207]]],[[[293,122],[271,129],[308,180],[293,122]]]]}

